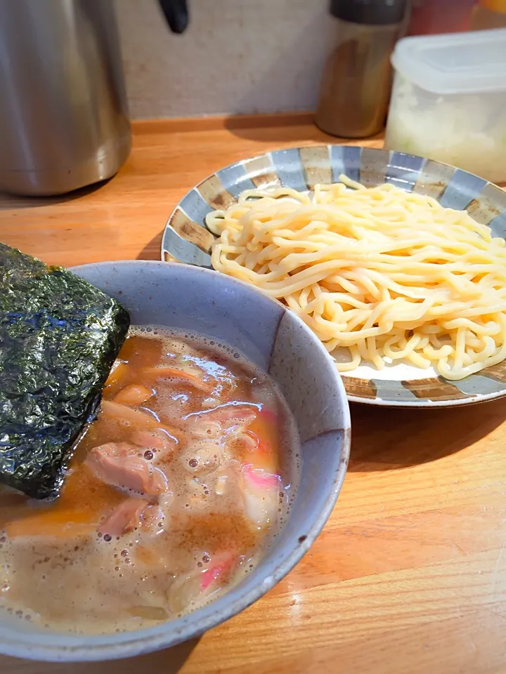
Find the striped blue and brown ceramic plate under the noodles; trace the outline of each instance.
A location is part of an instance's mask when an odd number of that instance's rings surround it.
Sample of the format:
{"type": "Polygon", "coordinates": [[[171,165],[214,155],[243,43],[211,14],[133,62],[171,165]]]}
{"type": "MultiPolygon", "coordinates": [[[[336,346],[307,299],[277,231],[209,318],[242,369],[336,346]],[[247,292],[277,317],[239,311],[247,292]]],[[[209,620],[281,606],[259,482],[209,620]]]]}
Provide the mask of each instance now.
{"type": "MultiPolygon", "coordinates": [[[[186,194],[171,214],[162,240],[162,259],[211,267],[214,237],[205,228],[209,211],[227,208],[242,190],[285,185],[311,190],[335,183],[340,173],[363,185],[391,183],[402,190],[429,194],[452,209],[466,209],[493,234],[506,238],[506,192],[472,173],[414,157],[369,147],[317,145],[268,152],[227,166],[186,194]]],[[[506,395],[506,362],[462,381],[447,381],[432,370],[408,364],[378,371],[360,366],[343,376],[350,400],[380,405],[429,407],[482,402],[506,395]]]]}

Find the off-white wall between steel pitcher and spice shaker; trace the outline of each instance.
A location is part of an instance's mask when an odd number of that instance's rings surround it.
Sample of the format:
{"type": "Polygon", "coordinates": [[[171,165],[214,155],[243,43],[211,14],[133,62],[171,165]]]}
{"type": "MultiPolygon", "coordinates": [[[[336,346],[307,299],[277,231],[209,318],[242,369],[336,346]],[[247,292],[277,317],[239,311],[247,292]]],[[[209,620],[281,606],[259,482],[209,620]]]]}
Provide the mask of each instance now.
{"type": "Polygon", "coordinates": [[[328,0],[188,0],[171,34],[156,0],[115,0],[131,117],[312,110],[335,44],[328,0]]]}

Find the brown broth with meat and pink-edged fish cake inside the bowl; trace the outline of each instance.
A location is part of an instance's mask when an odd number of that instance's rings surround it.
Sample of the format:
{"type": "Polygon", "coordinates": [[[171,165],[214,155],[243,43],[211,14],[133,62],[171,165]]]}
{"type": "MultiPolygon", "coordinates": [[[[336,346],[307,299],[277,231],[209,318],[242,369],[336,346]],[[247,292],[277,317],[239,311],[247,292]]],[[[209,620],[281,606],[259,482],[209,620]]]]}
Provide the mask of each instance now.
{"type": "Polygon", "coordinates": [[[0,491],[0,610],[76,633],[188,613],[261,560],[298,475],[268,376],[210,338],[132,328],[60,498],[0,491]]]}

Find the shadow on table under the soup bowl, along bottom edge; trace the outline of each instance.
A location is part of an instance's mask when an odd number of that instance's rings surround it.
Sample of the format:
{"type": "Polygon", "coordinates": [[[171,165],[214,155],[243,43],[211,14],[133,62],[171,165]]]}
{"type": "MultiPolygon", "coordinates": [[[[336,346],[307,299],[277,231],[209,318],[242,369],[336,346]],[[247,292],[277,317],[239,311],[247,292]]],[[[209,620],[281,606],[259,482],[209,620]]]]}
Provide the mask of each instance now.
{"type": "Polygon", "coordinates": [[[124,660],[105,662],[53,663],[32,662],[0,656],[0,671],[30,674],[176,674],[186,662],[199,639],[190,639],[164,651],[124,660]]]}

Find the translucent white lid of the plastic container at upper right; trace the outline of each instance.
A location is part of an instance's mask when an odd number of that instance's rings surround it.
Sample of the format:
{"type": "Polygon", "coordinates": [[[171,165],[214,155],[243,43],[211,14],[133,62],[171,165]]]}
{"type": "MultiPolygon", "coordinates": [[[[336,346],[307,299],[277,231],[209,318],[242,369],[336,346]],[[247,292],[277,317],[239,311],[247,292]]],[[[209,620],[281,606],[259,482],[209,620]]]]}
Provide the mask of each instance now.
{"type": "Polygon", "coordinates": [[[432,93],[505,91],[506,28],[405,37],[396,44],[391,63],[432,93]]]}

